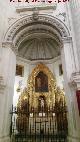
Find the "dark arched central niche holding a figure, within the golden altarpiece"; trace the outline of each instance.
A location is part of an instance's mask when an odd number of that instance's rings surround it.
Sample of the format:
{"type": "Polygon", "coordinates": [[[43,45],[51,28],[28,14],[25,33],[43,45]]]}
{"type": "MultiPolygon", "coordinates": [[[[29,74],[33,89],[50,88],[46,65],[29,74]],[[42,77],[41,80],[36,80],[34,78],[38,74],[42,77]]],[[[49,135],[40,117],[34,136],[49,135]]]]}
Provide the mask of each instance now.
{"type": "Polygon", "coordinates": [[[48,92],[48,77],[43,72],[39,72],[35,78],[35,92],[48,92]]]}

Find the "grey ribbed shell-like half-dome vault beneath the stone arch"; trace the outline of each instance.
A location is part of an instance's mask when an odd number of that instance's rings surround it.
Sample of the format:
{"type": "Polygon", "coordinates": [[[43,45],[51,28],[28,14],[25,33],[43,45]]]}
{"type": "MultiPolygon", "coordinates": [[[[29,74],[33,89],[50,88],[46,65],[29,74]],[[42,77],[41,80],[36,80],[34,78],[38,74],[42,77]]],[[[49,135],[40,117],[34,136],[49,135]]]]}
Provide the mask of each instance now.
{"type": "Polygon", "coordinates": [[[32,37],[20,44],[18,52],[28,60],[49,60],[60,55],[60,46],[48,37],[32,37]]]}

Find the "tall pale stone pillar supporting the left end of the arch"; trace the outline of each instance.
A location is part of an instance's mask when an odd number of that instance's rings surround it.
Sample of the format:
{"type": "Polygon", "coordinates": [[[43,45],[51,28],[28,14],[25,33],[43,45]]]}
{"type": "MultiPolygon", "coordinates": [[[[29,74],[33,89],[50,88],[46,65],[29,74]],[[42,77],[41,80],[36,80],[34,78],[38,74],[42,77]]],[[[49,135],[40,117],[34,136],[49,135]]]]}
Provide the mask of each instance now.
{"type": "Polygon", "coordinates": [[[16,67],[16,55],[12,49],[12,43],[3,43],[1,59],[3,81],[0,80],[0,142],[10,141],[10,109],[13,101],[16,67]]]}

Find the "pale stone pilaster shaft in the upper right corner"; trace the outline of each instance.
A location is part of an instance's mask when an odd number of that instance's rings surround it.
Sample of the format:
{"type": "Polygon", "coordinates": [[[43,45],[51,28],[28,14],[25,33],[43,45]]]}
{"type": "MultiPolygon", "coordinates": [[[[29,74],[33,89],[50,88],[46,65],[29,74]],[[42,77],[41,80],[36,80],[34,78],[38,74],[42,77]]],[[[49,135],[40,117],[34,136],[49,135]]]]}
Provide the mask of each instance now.
{"type": "Polygon", "coordinates": [[[80,69],[80,0],[70,0],[69,4],[80,69]]]}

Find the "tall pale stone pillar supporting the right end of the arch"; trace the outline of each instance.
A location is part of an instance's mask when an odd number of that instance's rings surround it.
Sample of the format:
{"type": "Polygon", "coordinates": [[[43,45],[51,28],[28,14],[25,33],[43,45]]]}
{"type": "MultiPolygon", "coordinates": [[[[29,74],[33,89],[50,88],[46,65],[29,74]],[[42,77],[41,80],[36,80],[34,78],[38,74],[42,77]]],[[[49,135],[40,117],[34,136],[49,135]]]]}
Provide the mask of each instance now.
{"type": "Polygon", "coordinates": [[[76,85],[72,85],[72,74],[76,71],[71,38],[63,40],[61,52],[64,71],[64,89],[68,108],[68,142],[80,142],[80,118],[76,101],[76,85]]]}

